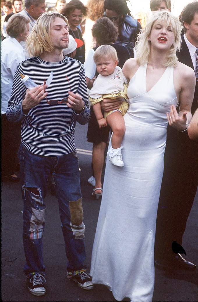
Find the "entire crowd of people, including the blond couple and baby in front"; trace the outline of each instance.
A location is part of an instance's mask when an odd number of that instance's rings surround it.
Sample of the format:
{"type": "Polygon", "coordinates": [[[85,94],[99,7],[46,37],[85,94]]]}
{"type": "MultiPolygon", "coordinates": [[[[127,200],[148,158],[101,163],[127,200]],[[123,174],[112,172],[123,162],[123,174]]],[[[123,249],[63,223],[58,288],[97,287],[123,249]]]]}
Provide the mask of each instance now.
{"type": "Polygon", "coordinates": [[[2,2],[2,180],[21,183],[31,294],[46,293],[44,198],[53,179],[67,278],[86,290],[104,284],[118,301],[151,302],[154,266],[196,269],[173,243],[182,245],[198,186],[198,1],[178,18],[170,0],[151,0],[143,29],[125,0],[88,3],[57,0],[45,12],[45,0],[25,0],[24,9],[2,2]],[[76,122],[88,123],[88,182],[102,197],[90,273],[76,122]]]}

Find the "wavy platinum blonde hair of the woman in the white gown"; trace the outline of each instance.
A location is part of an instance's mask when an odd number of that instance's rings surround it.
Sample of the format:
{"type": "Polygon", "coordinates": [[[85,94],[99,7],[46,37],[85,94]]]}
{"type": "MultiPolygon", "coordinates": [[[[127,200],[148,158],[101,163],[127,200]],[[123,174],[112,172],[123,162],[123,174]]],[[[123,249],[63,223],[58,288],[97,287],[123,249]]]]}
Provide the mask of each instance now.
{"type": "Polygon", "coordinates": [[[169,11],[156,11],[150,17],[145,28],[141,31],[138,36],[135,50],[136,50],[136,60],[139,65],[144,65],[148,63],[151,55],[151,42],[148,41],[148,37],[151,34],[152,27],[156,21],[167,23],[167,26],[171,26],[171,30],[174,32],[175,40],[173,45],[170,47],[170,51],[167,55],[166,62],[164,66],[175,67],[177,64],[176,51],[180,50],[181,45],[181,29],[182,25],[178,17],[175,17],[169,11]]]}

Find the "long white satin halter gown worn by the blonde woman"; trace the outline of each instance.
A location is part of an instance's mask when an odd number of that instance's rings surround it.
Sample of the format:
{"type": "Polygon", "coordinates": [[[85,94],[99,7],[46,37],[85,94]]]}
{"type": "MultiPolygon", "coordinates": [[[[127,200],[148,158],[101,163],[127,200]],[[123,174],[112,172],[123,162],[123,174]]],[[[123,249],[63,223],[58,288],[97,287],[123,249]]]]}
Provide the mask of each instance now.
{"type": "Polygon", "coordinates": [[[124,116],[124,167],[107,158],[102,202],[93,244],[90,275],[105,284],[116,300],[152,301],[154,238],[163,175],[167,117],[177,106],[173,68],[146,92],[147,65],[128,85],[124,116]]]}

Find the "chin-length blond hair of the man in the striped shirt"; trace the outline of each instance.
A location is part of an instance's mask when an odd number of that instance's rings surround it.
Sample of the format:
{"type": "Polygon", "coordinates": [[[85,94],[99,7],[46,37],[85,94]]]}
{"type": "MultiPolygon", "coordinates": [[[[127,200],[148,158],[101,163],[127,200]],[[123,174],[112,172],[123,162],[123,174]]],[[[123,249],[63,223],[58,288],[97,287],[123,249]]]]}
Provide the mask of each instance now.
{"type": "Polygon", "coordinates": [[[34,24],[26,40],[26,51],[29,56],[40,56],[44,51],[51,52],[54,48],[50,38],[50,26],[54,19],[62,18],[68,25],[67,18],[57,11],[43,13],[34,24]]]}

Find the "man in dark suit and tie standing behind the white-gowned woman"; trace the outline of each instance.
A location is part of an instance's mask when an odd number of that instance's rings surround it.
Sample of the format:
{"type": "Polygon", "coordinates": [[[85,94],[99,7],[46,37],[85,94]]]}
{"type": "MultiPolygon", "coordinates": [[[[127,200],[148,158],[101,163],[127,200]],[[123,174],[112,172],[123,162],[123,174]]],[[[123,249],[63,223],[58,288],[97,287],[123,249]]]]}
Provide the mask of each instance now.
{"type": "MultiPolygon", "coordinates": [[[[184,8],[181,20],[185,34],[182,36],[181,49],[177,56],[180,62],[195,70],[198,49],[198,1],[191,2],[184,8]]],[[[191,108],[192,114],[198,107],[197,99],[198,82],[191,108]]],[[[158,268],[196,268],[196,265],[185,260],[179,251],[174,253],[171,245],[173,241],[182,244],[197,185],[198,142],[190,140],[187,131],[181,133],[168,125],[155,238],[155,265],[158,268]]],[[[188,255],[188,247],[184,248],[188,255]]]]}

